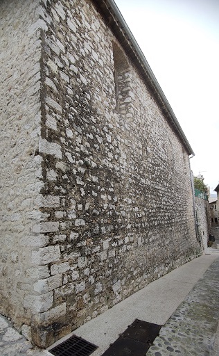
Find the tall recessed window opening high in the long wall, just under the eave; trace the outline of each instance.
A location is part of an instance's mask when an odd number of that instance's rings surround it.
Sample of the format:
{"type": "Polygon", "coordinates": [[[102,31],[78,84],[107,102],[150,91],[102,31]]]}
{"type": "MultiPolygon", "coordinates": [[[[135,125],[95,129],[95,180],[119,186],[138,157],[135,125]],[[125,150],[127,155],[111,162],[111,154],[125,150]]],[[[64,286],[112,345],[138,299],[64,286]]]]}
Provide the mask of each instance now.
{"type": "Polygon", "coordinates": [[[129,63],[118,44],[112,42],[112,48],[114,57],[115,110],[117,113],[125,113],[127,111],[126,106],[128,106],[125,99],[127,99],[130,91],[129,63]]]}

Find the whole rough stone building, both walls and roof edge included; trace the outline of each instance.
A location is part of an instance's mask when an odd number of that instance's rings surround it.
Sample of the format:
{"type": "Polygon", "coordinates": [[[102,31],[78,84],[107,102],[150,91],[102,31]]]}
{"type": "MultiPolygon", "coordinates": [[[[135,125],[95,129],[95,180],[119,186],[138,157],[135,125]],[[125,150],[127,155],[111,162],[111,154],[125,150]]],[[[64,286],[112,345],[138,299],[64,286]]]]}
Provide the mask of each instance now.
{"type": "Polygon", "coordinates": [[[202,253],[193,152],[112,0],[0,18],[1,313],[46,348],[202,253]]]}

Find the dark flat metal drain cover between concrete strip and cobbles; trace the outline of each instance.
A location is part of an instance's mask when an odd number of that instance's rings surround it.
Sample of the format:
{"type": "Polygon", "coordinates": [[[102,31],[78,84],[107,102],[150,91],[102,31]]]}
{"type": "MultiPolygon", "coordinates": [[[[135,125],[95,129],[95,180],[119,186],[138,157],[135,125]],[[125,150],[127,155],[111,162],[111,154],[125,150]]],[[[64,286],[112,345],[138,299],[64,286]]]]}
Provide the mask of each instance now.
{"type": "Polygon", "coordinates": [[[102,356],[145,356],[161,325],[135,319],[102,356]]]}

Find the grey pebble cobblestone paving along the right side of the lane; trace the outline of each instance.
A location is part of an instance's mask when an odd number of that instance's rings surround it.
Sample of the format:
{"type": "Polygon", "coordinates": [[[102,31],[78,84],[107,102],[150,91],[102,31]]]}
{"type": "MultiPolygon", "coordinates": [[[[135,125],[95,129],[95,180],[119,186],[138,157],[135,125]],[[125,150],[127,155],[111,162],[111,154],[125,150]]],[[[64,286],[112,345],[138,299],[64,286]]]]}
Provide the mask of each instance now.
{"type": "MultiPolygon", "coordinates": [[[[211,253],[213,249],[208,249],[211,253]]],[[[219,258],[176,309],[147,356],[218,356],[219,258]]]]}

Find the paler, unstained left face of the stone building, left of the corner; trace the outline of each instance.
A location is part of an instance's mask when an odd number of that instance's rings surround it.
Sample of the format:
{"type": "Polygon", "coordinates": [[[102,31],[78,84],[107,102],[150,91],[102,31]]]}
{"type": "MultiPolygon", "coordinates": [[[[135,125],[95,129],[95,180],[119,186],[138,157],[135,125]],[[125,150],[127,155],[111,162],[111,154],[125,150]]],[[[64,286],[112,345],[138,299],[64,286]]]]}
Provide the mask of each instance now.
{"type": "Polygon", "coordinates": [[[30,323],[23,300],[38,268],[33,246],[42,243],[33,226],[40,220],[43,186],[40,135],[40,57],[38,1],[0,3],[1,111],[1,312],[19,325],[30,323]]]}

